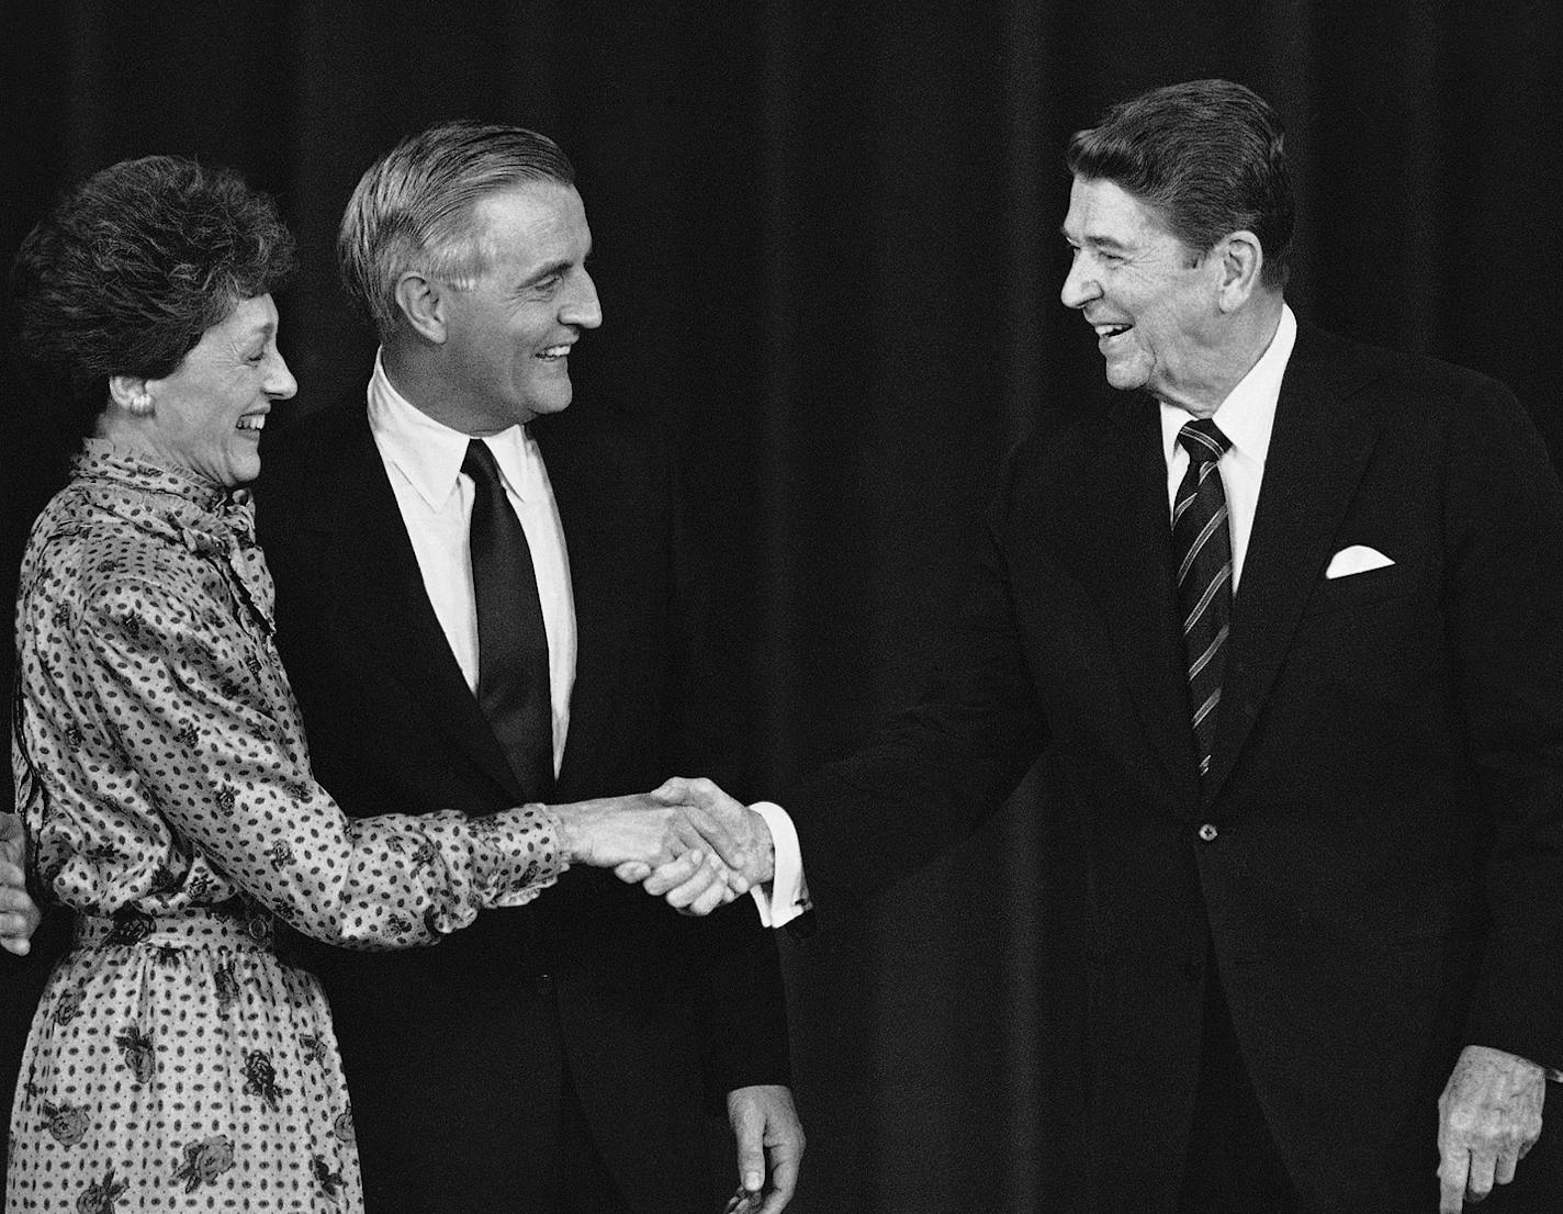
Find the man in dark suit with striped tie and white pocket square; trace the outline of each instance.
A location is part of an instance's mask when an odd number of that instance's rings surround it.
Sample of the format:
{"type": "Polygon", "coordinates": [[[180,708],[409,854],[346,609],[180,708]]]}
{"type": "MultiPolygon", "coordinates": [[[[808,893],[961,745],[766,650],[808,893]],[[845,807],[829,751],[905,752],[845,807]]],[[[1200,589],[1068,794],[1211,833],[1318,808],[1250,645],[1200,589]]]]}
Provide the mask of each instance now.
{"type": "MultiPolygon", "coordinates": [[[[1010,455],[941,692],[783,798],[816,905],[1039,759],[1044,981],[1089,1042],[1058,1209],[1563,1209],[1541,442],[1493,380],[1296,320],[1282,130],[1247,89],[1125,102],[1069,167],[1063,302],[1122,395],[1010,455]]],[[[758,816],[694,792],[771,878],[758,816]]]]}

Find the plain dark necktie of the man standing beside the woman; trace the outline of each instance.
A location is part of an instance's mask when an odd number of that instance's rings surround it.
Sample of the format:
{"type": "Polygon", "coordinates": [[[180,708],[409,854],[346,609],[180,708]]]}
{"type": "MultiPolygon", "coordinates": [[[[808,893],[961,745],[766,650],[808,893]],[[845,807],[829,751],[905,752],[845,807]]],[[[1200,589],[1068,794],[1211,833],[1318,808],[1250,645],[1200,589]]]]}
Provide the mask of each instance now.
{"type": "Polygon", "coordinates": [[[545,802],[553,794],[553,702],[531,550],[488,444],[472,439],[461,470],[472,478],[478,705],[527,798],[545,802]]]}

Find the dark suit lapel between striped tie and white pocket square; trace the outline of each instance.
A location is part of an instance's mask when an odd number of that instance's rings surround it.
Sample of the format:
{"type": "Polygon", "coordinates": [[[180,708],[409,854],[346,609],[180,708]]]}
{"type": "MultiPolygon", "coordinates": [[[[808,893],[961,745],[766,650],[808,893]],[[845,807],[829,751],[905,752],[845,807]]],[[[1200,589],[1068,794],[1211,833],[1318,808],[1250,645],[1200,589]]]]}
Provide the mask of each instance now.
{"type": "Polygon", "coordinates": [[[1299,327],[1232,611],[1207,800],[1232,773],[1258,719],[1372,455],[1377,423],[1346,403],[1364,378],[1347,347],[1333,348],[1319,331],[1299,327]]]}

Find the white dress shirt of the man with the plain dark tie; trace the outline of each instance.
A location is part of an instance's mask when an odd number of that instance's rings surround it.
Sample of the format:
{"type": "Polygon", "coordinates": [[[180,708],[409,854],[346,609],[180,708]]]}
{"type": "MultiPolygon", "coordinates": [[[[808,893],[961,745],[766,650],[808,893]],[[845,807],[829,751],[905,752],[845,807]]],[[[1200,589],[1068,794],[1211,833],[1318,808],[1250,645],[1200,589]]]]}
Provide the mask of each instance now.
{"type": "MultiPolygon", "coordinates": [[[[477,695],[478,611],[472,591],[472,478],[461,472],[466,434],[436,422],[406,400],[386,377],[380,355],[369,380],[369,430],[384,461],[402,522],[417,556],[424,589],[461,673],[477,695]]],[[[549,691],[553,700],[553,773],[564,759],[575,686],[575,600],[564,528],[542,453],[525,427],[483,439],[499,464],[505,497],[527,533],[531,567],[549,634],[549,691]]]]}

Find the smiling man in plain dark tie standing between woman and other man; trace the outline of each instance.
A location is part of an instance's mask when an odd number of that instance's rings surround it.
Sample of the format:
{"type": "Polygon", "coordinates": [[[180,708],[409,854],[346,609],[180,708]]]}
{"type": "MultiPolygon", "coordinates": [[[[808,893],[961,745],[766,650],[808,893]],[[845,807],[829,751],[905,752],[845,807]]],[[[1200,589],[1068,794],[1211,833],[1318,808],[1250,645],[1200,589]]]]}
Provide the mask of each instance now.
{"type": "MultiPolygon", "coordinates": [[[[564,412],[570,347],[602,319],[589,245],[569,162],[517,128],[413,136],[349,205],[374,377],[267,433],[258,487],[311,761],[349,814],[481,814],[674,770],[671,466],[627,419],[564,412]]],[[[439,948],[306,964],[370,1214],[711,1208],[703,1109],[724,1100],[742,1177],[769,1173],[763,1208],[791,1197],[778,964],[752,920],[575,869],[439,948]]]]}

